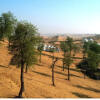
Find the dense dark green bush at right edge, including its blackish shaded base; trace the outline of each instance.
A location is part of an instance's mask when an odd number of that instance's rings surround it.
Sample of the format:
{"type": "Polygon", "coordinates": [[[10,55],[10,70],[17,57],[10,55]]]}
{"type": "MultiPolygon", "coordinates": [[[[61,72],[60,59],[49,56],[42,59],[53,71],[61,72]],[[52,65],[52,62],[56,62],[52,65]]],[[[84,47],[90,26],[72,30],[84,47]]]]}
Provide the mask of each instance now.
{"type": "Polygon", "coordinates": [[[85,43],[83,48],[87,56],[77,65],[77,67],[86,70],[86,74],[89,77],[100,79],[100,71],[98,71],[100,65],[100,45],[96,42],[89,42],[85,43]]]}

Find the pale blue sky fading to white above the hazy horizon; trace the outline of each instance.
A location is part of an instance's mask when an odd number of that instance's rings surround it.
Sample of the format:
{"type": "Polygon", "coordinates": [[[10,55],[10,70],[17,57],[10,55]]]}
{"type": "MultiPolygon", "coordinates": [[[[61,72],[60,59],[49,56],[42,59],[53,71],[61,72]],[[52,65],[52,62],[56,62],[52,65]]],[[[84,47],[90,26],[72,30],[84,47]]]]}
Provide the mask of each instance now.
{"type": "Polygon", "coordinates": [[[100,0],[0,0],[0,14],[8,11],[42,34],[100,34],[100,0]]]}

